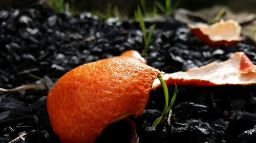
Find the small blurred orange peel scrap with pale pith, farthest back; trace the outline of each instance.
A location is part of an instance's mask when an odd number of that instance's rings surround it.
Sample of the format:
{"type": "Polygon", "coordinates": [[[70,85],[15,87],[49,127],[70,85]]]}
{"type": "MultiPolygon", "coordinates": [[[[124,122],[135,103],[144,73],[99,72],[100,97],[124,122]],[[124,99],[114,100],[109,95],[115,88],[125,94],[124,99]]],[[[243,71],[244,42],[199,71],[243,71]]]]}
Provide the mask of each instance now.
{"type": "Polygon", "coordinates": [[[241,40],[241,26],[237,21],[226,20],[208,25],[188,24],[193,34],[209,45],[232,45],[241,40]]]}

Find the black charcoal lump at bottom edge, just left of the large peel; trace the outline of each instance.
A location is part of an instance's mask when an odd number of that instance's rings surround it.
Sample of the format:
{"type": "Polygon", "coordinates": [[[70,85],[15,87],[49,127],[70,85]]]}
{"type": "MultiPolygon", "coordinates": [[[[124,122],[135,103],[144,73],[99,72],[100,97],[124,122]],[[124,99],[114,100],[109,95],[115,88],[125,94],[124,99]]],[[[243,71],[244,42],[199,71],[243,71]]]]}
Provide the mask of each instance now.
{"type": "Polygon", "coordinates": [[[49,133],[46,130],[33,130],[28,133],[25,141],[27,143],[38,142],[38,143],[50,143],[52,142],[49,133]]]}

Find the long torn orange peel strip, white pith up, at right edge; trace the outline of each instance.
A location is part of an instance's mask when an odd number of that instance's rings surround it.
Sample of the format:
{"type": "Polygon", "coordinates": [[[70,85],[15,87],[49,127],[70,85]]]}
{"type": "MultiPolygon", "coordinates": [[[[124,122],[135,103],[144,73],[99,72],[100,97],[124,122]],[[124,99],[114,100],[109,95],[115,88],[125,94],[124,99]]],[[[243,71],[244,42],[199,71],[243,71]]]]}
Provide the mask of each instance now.
{"type": "MultiPolygon", "coordinates": [[[[233,53],[227,61],[210,63],[192,68],[186,72],[164,74],[162,78],[166,84],[181,85],[248,85],[256,84],[256,66],[244,52],[233,53]]],[[[152,89],[160,87],[161,83],[155,80],[152,89]]]]}

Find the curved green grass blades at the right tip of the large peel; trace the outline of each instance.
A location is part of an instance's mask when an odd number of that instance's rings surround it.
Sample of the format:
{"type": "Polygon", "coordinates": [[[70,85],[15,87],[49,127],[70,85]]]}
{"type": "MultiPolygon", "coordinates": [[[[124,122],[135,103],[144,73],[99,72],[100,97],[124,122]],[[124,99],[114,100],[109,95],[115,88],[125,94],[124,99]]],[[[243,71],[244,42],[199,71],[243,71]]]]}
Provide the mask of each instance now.
{"type": "Polygon", "coordinates": [[[155,122],[152,124],[153,127],[156,127],[158,124],[161,124],[161,123],[164,122],[166,116],[168,115],[169,110],[174,105],[174,102],[176,100],[176,96],[177,96],[177,93],[178,93],[177,85],[175,84],[174,95],[173,95],[172,100],[170,100],[170,103],[169,103],[169,94],[168,94],[167,85],[166,85],[166,83],[164,82],[164,80],[161,76],[157,76],[157,78],[160,80],[160,82],[162,84],[163,92],[164,92],[164,99],[165,99],[164,101],[165,102],[164,102],[164,108],[163,108],[162,116],[155,120],[155,122]],[[169,105],[168,105],[168,103],[169,103],[169,105]]]}

